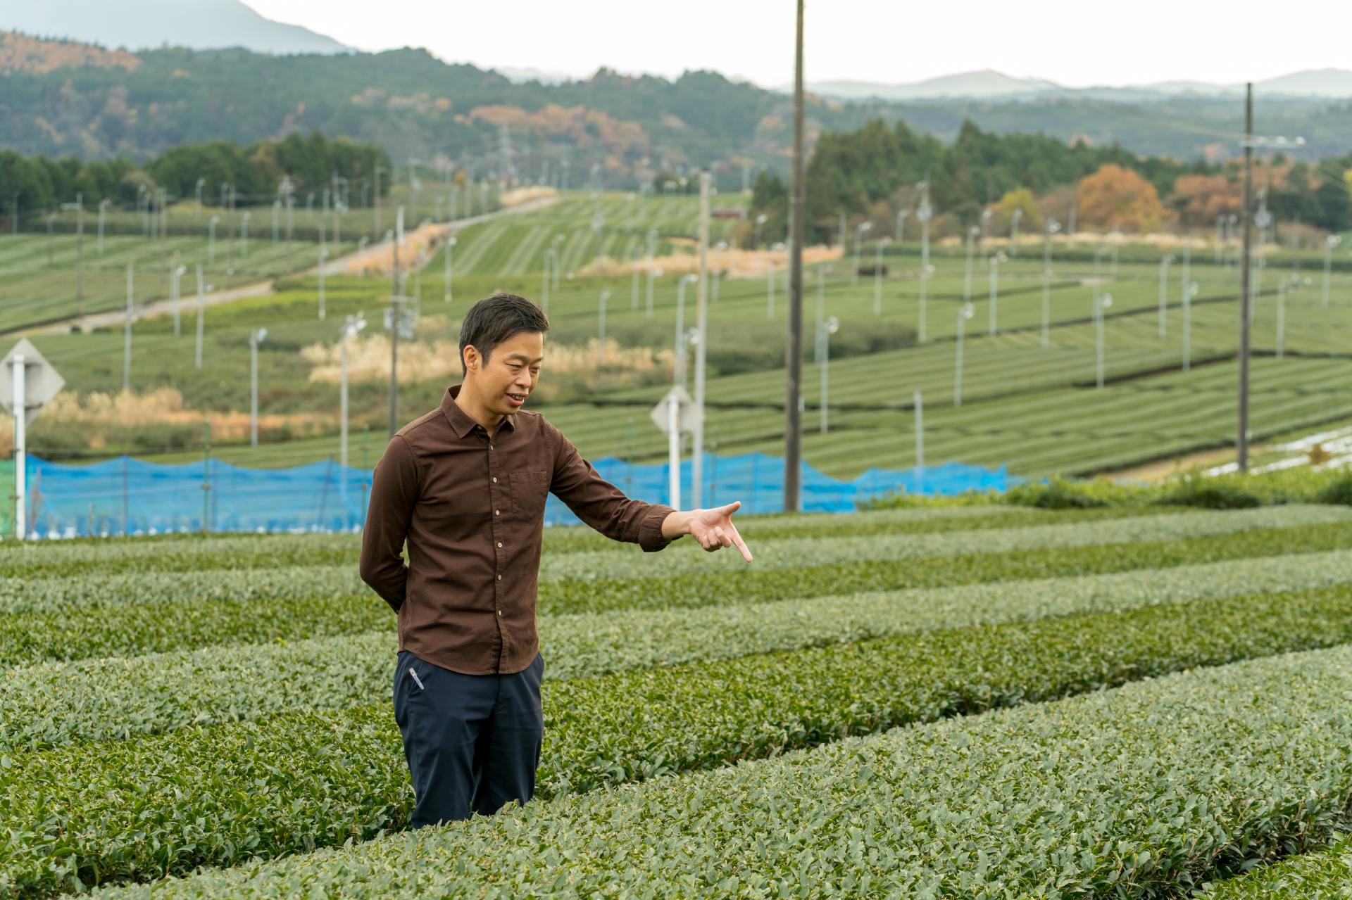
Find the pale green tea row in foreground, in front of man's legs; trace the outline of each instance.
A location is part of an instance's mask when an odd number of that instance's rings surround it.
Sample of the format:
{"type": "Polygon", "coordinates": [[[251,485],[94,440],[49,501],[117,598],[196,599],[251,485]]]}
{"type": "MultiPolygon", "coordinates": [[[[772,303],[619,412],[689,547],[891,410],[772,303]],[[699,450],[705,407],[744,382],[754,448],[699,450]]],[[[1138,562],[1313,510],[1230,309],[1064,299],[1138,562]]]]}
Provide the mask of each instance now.
{"type": "Polygon", "coordinates": [[[100,896],[1186,896],[1345,818],[1349,678],[1190,672],[100,896]]]}

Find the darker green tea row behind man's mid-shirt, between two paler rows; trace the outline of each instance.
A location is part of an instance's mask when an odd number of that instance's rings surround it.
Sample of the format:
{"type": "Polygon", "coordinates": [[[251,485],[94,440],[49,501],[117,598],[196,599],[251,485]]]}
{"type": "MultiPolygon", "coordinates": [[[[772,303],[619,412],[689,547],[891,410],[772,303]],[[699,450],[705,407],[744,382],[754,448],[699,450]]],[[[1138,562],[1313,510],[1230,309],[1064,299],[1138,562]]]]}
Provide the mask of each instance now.
{"type": "MultiPolygon", "coordinates": [[[[1229,514],[1236,515],[1236,514],[1229,514]]],[[[539,585],[541,616],[612,609],[756,604],[868,591],[1129,572],[1245,557],[1352,547],[1352,523],[1241,531],[1178,541],[1044,547],[927,559],[831,564],[803,569],[700,572],[679,577],[588,578],[539,585]]],[[[740,557],[738,557],[740,558],[740,557]]],[[[300,641],[393,628],[389,607],[369,591],[219,603],[184,600],[173,578],[143,580],[147,603],[0,615],[0,666],[126,657],[207,646],[300,641]]]]}

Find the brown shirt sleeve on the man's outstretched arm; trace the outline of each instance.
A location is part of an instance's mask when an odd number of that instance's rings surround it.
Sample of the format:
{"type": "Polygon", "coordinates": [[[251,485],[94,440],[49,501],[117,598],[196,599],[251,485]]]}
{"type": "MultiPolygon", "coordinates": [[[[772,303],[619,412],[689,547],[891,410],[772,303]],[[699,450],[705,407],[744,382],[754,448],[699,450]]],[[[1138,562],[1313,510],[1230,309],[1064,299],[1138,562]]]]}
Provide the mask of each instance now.
{"type": "Polygon", "coordinates": [[[545,427],[554,447],[549,491],[579,519],[612,541],[637,543],[645,553],[661,550],[673,541],[662,536],[662,520],[676,512],[675,507],[626,497],[583,459],[562,431],[549,423],[545,427]]]}

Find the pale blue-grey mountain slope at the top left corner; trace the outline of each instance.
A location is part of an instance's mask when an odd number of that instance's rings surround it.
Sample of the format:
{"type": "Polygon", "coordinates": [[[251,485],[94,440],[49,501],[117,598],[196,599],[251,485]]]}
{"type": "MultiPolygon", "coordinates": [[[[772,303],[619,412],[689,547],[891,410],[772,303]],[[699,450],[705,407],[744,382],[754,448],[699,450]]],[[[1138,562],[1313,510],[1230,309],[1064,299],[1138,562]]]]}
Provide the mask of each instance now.
{"type": "Polygon", "coordinates": [[[0,28],[138,50],[164,45],[246,47],[257,53],[343,53],[300,26],[265,19],[239,0],[42,0],[5,3],[0,28]]]}

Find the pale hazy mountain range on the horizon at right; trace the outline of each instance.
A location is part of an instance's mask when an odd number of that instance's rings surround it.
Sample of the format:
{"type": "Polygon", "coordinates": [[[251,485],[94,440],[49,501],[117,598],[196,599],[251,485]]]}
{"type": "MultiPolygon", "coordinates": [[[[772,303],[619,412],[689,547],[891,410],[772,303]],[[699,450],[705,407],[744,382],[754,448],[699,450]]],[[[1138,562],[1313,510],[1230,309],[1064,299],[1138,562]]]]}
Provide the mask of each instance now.
{"type": "MultiPolygon", "coordinates": [[[[1014,78],[1000,72],[984,69],[960,74],[926,78],[910,84],[880,84],[875,81],[819,81],[806,85],[808,91],[834,100],[1029,100],[1046,97],[1090,97],[1126,103],[1164,100],[1168,97],[1228,97],[1244,93],[1242,84],[1211,84],[1207,81],[1157,81],[1145,85],[1067,88],[1042,78],[1014,78]]],[[[780,86],[783,93],[792,88],[780,86]]],[[[1293,97],[1352,97],[1352,70],[1311,69],[1253,82],[1256,95],[1293,97]]]]}

